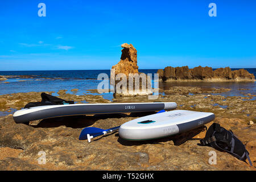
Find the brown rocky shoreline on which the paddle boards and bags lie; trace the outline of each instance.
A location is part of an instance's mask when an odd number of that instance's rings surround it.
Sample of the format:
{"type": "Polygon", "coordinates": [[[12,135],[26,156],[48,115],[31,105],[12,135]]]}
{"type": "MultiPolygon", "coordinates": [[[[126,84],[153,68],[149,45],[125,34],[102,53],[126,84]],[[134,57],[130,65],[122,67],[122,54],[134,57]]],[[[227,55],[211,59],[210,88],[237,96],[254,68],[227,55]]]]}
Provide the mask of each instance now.
{"type": "MultiPolygon", "coordinates": [[[[253,165],[256,164],[256,101],[244,97],[224,97],[213,93],[228,92],[177,86],[162,90],[156,100],[175,101],[177,109],[209,111],[216,115],[213,122],[231,129],[246,144],[253,165]],[[190,90],[188,94],[187,90],[190,90]]],[[[89,103],[109,103],[102,96],[66,93],[60,98],[89,103]]],[[[77,89],[73,89],[76,93],[77,89]]],[[[1,111],[21,109],[28,102],[40,101],[41,92],[15,93],[0,96],[1,111]]],[[[53,92],[48,92],[49,94],[53,92]]],[[[248,97],[250,98],[250,97],[248,97]]],[[[113,102],[149,102],[147,96],[115,97],[113,102]]],[[[144,142],[129,142],[118,137],[118,132],[96,138],[91,143],[80,141],[84,127],[102,129],[121,125],[150,113],[87,115],[44,119],[30,125],[16,124],[13,115],[0,117],[0,170],[255,170],[249,164],[212,147],[199,146],[203,128],[172,137],[144,142]],[[216,151],[217,164],[208,163],[209,151],[216,151]],[[38,163],[38,152],[46,152],[46,164],[38,163]]],[[[209,127],[213,122],[208,123],[209,127]]]]}

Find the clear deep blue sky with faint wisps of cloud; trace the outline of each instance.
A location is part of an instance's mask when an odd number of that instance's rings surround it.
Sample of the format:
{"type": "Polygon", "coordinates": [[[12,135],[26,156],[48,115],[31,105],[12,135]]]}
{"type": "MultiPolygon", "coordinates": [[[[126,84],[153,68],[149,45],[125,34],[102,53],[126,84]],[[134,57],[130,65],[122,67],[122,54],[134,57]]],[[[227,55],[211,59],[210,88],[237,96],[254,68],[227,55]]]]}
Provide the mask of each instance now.
{"type": "Polygon", "coordinates": [[[110,69],[122,43],[140,69],[256,68],[256,1],[0,1],[0,71],[110,69]]]}

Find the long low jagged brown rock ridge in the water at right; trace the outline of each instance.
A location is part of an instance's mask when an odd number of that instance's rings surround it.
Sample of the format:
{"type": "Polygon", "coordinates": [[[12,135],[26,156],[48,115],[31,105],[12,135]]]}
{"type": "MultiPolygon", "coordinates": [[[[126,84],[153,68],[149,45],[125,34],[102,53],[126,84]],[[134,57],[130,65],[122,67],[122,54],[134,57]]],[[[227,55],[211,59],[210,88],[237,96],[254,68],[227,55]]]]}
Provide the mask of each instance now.
{"type": "Polygon", "coordinates": [[[218,68],[213,71],[211,67],[166,67],[158,70],[162,81],[254,81],[255,77],[245,69],[232,71],[229,67],[218,68]]]}

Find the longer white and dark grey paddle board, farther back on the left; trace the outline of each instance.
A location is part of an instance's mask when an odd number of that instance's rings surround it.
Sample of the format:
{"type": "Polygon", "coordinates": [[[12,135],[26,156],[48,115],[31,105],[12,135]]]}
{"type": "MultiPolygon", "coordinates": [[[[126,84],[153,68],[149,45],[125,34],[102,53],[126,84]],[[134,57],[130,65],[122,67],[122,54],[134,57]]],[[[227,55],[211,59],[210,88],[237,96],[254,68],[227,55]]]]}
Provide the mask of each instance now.
{"type": "Polygon", "coordinates": [[[175,102],[47,105],[18,110],[13,114],[13,118],[16,123],[26,123],[68,115],[132,113],[176,109],[176,107],[175,102]]]}

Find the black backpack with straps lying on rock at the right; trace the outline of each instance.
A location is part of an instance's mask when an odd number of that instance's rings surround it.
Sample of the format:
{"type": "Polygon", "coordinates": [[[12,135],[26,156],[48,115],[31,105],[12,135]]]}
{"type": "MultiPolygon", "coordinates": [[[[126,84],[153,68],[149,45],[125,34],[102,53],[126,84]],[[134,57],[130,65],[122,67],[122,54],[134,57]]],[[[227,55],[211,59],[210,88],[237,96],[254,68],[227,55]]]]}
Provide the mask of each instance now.
{"type": "Polygon", "coordinates": [[[233,134],[231,130],[226,130],[218,123],[213,123],[204,139],[200,139],[200,143],[203,146],[211,146],[218,151],[228,152],[237,159],[246,162],[248,159],[251,166],[251,160],[249,158],[249,152],[246,150],[245,145],[233,134]]]}

